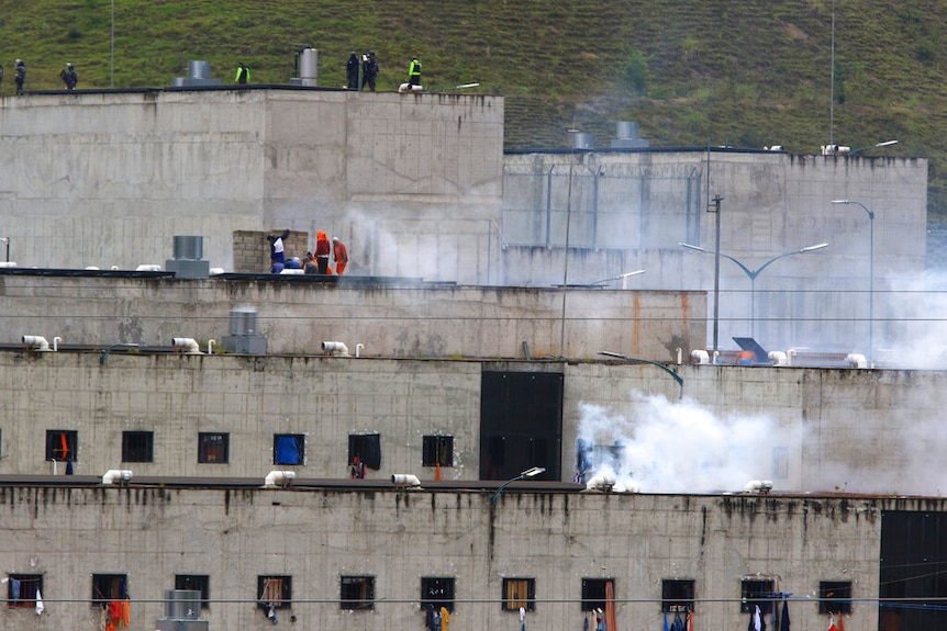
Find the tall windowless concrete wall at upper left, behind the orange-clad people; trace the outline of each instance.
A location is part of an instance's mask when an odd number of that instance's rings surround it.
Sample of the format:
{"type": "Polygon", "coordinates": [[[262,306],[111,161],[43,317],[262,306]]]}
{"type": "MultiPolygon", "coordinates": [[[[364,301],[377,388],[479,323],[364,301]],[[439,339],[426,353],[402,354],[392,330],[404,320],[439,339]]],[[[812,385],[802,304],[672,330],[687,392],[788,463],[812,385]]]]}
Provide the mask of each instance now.
{"type": "Polygon", "coordinates": [[[367,274],[473,282],[500,214],[501,98],[31,94],[0,101],[0,222],[21,267],[163,264],[174,236],[196,235],[233,270],[235,232],[291,228],[341,237],[367,274]]]}

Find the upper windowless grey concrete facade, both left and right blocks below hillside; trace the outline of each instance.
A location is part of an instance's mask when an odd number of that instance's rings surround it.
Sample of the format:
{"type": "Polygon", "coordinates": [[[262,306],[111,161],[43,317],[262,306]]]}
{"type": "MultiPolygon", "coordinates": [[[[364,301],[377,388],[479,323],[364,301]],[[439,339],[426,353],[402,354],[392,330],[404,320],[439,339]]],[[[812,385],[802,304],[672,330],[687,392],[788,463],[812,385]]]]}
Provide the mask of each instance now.
{"type": "Polygon", "coordinates": [[[721,250],[749,270],[829,247],[754,281],[723,260],[717,348],[751,336],[872,356],[923,334],[902,305],[925,263],[924,159],[504,156],[500,97],[332,89],[31,94],[0,101],[0,222],[21,267],[163,264],[174,236],[196,235],[211,267],[265,271],[247,269],[244,236],[291,228],[341,237],[356,275],[617,286],[645,269],[625,286],[709,291],[713,259],[678,244],[713,249],[720,195],[721,250]]]}

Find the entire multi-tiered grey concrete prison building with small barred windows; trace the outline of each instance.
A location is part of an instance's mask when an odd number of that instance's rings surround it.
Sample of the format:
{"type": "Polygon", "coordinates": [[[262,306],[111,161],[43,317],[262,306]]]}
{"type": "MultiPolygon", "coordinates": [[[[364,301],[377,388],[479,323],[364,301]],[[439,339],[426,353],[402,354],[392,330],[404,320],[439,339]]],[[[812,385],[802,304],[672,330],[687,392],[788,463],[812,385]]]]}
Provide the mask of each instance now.
{"type": "Polygon", "coordinates": [[[795,630],[944,627],[945,373],[848,368],[911,333],[924,160],[504,156],[484,95],[0,111],[3,628],[423,628],[430,604],[455,630],[722,631],[783,601],[795,630]],[[831,247],[749,293],[723,272],[704,364],[710,259],[679,243],[706,249],[708,192],[735,259],[831,247]],[[352,275],[265,274],[283,229],[342,237],[352,275]],[[224,273],[161,269],[186,235],[224,273]],[[834,296],[869,262],[872,302],[834,296]],[[732,365],[747,329],[786,361],[732,365]],[[266,345],[211,343],[241,336],[266,345]]]}

